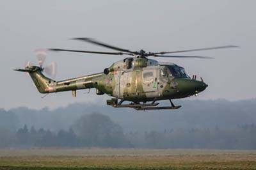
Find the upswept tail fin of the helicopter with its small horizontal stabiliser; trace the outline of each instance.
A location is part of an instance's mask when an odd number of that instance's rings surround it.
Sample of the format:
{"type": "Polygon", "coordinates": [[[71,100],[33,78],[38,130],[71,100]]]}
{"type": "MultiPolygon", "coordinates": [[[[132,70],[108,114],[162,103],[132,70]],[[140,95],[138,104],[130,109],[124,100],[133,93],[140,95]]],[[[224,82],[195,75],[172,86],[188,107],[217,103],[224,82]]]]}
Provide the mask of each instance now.
{"type": "Polygon", "coordinates": [[[42,68],[38,66],[30,66],[26,69],[15,69],[15,71],[28,72],[40,93],[51,93],[56,91],[56,81],[45,77],[42,73],[42,68]]]}

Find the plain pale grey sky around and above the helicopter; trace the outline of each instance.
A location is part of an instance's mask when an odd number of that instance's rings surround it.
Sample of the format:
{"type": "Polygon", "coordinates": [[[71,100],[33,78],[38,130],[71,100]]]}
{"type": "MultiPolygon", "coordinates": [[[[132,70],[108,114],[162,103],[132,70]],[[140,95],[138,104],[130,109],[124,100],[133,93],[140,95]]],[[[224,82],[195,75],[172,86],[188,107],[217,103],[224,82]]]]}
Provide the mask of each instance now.
{"type": "MultiPolygon", "coordinates": [[[[209,87],[189,100],[255,98],[256,1],[0,1],[0,108],[61,107],[75,102],[106,103],[95,90],[71,91],[41,98],[28,75],[13,72],[25,61],[36,63],[35,49],[103,50],[69,40],[90,37],[125,49],[150,52],[220,45],[237,49],[207,50],[180,55],[215,59],[157,58],[183,66],[203,77],[209,87]]],[[[56,61],[57,81],[102,72],[125,56],[48,52],[45,64],[56,61]]]]}

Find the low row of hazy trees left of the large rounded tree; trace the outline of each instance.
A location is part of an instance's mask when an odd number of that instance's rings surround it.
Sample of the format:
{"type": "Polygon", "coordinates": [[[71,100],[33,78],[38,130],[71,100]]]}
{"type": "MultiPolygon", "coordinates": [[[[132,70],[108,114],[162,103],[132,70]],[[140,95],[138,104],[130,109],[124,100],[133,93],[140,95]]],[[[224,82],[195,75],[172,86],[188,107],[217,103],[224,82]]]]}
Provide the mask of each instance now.
{"type": "Polygon", "coordinates": [[[74,130],[60,130],[57,134],[51,130],[34,127],[28,129],[27,125],[12,132],[6,128],[0,128],[0,148],[33,148],[33,147],[77,147],[74,130]]]}

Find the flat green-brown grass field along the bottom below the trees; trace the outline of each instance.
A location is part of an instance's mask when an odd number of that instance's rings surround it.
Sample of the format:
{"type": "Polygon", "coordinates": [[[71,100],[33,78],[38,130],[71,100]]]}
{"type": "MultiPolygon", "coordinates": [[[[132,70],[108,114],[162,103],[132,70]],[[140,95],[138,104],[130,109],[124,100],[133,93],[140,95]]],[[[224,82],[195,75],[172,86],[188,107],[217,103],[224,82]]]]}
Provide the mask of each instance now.
{"type": "Polygon", "coordinates": [[[256,169],[256,151],[4,149],[2,169],[256,169]]]}

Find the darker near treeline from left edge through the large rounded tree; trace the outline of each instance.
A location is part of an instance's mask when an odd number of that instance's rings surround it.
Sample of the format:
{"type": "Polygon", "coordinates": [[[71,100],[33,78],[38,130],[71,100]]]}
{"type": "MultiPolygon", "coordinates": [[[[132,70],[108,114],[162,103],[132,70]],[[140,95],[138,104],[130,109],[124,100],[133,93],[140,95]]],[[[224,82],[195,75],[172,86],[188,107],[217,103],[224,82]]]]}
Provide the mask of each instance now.
{"type": "Polygon", "coordinates": [[[120,125],[97,113],[81,116],[68,130],[58,132],[27,125],[15,132],[0,127],[0,148],[31,147],[131,148],[132,145],[120,125]]]}

